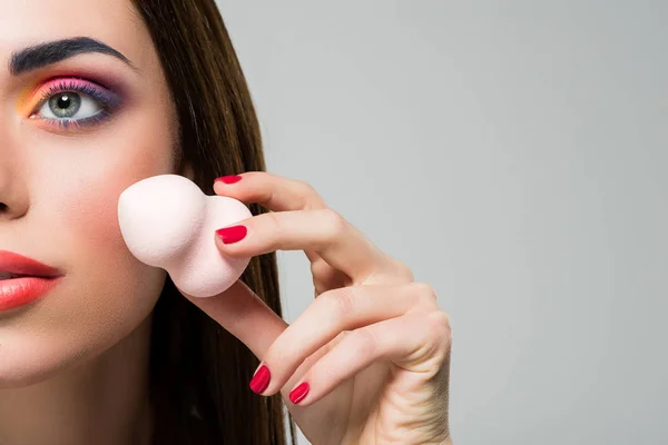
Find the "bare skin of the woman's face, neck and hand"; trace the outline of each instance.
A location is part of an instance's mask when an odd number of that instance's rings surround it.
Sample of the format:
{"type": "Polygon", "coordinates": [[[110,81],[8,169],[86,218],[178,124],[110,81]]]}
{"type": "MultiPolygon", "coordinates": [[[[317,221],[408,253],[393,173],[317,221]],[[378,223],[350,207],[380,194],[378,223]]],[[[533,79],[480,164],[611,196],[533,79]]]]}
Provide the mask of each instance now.
{"type": "MultiPolygon", "coordinates": [[[[48,297],[0,313],[0,443],[147,444],[150,312],[165,273],[127,250],[116,204],[137,180],[174,172],[174,109],[157,55],[126,1],[0,7],[0,248],[66,275],[48,297]],[[7,70],[13,51],[76,36],[104,41],[137,70],[108,55],[21,77],[7,70]],[[30,119],[27,90],[79,71],[94,82],[111,73],[122,91],[112,119],[75,131],[30,119]]],[[[185,296],[268,367],[262,396],[281,393],[313,444],[450,444],[451,335],[434,290],[307,184],[244,172],[215,190],[272,210],[239,222],[247,235],[237,243],[212,234],[224,255],[303,250],[312,264],[316,298],[289,326],[242,281],[212,298],[185,296]],[[310,390],[293,404],[304,382],[310,390]]]]}

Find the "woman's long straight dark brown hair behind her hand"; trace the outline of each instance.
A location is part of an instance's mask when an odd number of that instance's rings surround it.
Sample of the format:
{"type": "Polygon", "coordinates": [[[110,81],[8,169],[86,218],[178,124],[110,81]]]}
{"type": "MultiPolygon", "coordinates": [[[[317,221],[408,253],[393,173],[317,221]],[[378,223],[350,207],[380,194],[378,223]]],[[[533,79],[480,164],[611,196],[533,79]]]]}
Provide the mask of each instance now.
{"type": "MultiPolygon", "coordinates": [[[[194,181],[208,195],[218,176],[264,170],[250,93],[215,1],[132,3],[173,95],[179,165],[193,167],[194,181]]],[[[264,211],[249,207],[254,215],[264,211]]],[[[282,315],[275,254],[254,257],[242,279],[282,315]]],[[[281,395],[258,396],[248,388],[257,358],[180,296],[169,277],[153,323],[154,444],[285,444],[281,395]]]]}

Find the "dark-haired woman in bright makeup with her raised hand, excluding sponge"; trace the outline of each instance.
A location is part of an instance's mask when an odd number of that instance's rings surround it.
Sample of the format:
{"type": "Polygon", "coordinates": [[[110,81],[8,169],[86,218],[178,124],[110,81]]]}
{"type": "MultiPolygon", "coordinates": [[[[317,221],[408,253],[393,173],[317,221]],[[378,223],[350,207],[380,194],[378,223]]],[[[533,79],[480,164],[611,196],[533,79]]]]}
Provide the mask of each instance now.
{"type": "Polygon", "coordinates": [[[1,6],[1,444],[284,444],[284,404],[293,439],[292,419],[313,444],[451,443],[448,317],[264,171],[213,0],[1,6]],[[253,211],[212,234],[253,256],[223,295],[184,298],[122,241],[120,192],[168,172],[253,211]],[[317,297],[289,327],[277,249],[304,250],[317,297]]]}

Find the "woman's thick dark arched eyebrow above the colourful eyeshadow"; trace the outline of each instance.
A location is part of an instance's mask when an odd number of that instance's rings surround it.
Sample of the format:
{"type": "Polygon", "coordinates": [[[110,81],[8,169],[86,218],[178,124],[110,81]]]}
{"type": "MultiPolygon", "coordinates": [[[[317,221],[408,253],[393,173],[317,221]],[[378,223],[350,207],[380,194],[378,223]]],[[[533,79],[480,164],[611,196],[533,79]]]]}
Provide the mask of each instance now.
{"type": "Polygon", "coordinates": [[[69,59],[70,57],[88,52],[114,56],[137,71],[137,68],[127,57],[108,44],[89,37],[75,37],[71,39],[39,43],[13,52],[9,61],[9,72],[11,72],[12,76],[20,76],[48,65],[69,59]]]}

